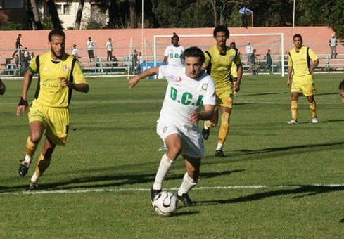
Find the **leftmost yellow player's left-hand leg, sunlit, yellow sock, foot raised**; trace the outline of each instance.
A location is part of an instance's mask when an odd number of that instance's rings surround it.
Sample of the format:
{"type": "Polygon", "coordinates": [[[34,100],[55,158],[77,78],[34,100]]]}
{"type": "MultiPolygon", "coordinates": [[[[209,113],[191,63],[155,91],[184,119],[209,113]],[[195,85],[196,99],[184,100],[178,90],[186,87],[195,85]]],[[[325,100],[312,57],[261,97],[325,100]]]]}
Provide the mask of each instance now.
{"type": "Polygon", "coordinates": [[[44,124],[39,121],[33,121],[30,123],[30,136],[27,138],[26,146],[25,146],[25,157],[24,160],[20,162],[18,173],[20,176],[25,176],[27,171],[29,170],[32,157],[37,150],[37,146],[39,141],[41,141],[43,132],[44,132],[44,124]]]}

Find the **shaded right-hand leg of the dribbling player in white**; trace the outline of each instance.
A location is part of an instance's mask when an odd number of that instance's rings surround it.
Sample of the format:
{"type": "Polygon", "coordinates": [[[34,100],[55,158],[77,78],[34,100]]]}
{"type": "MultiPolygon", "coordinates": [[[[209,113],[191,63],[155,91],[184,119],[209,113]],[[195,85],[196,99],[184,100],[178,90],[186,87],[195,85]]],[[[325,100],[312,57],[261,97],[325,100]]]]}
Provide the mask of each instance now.
{"type": "Polygon", "coordinates": [[[184,174],[181,186],[178,189],[177,197],[186,206],[192,206],[193,202],[189,197],[189,191],[196,186],[200,174],[200,158],[183,155],[186,173],[184,174]]]}

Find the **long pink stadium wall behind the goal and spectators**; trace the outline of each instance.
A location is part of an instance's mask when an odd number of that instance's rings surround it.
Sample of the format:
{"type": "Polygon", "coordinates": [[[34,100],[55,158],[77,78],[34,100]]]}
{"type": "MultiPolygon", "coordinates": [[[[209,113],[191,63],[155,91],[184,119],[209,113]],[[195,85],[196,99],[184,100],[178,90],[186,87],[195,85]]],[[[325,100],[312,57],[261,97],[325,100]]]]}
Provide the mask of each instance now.
{"type": "MultiPolygon", "coordinates": [[[[91,37],[96,47],[101,47],[99,56],[106,56],[105,44],[108,37],[113,39],[116,51],[115,55],[128,55],[130,39],[132,38],[132,47],[142,51],[142,35],[146,41],[153,42],[154,34],[171,35],[176,32],[182,34],[212,34],[213,28],[170,28],[170,29],[118,29],[118,30],[65,30],[67,36],[66,49],[70,52],[72,44],[77,44],[81,56],[87,56],[86,42],[91,37]]],[[[284,33],[284,49],[288,51],[292,45],[292,27],[230,27],[231,34],[253,34],[253,33],[284,33]]],[[[35,55],[48,50],[47,35],[49,30],[41,31],[2,31],[0,32],[0,58],[10,58],[15,48],[15,39],[18,34],[23,35],[21,44],[23,48],[27,46],[29,50],[35,49],[35,55]]],[[[329,52],[329,38],[334,32],[329,27],[295,27],[294,34],[301,34],[306,45],[312,46],[316,53],[329,52]]],[[[229,39],[230,41],[230,39],[229,39]]],[[[237,43],[238,44],[238,43],[237,43]]],[[[241,43],[241,45],[246,43],[241,43]]],[[[255,42],[252,41],[254,45],[255,42]]],[[[244,49],[239,49],[245,52],[244,49]]],[[[338,53],[343,53],[343,45],[338,46],[338,53]]],[[[265,52],[264,52],[265,53],[265,52]]]]}

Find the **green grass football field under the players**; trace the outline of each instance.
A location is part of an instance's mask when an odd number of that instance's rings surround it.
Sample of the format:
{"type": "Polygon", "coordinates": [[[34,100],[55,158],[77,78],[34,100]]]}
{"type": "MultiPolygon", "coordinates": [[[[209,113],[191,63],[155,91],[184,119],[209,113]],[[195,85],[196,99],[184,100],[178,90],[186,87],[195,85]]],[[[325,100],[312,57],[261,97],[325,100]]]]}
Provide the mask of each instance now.
{"type": "MultiPolygon", "coordinates": [[[[0,96],[0,238],[343,238],[341,79],[314,75],[320,123],[310,122],[300,98],[300,123],[288,125],[286,78],[245,76],[228,157],[214,157],[218,127],[212,129],[190,193],[196,205],[169,218],[158,217],[149,199],[163,155],[155,121],[165,81],[129,89],[125,78],[89,79],[88,94],[73,94],[66,146],[56,148],[39,190],[27,193],[34,165],[18,176],[28,134],[27,116],[15,116],[21,82],[7,80],[0,96]]],[[[183,174],[179,158],[165,188],[175,192],[183,174]]]]}

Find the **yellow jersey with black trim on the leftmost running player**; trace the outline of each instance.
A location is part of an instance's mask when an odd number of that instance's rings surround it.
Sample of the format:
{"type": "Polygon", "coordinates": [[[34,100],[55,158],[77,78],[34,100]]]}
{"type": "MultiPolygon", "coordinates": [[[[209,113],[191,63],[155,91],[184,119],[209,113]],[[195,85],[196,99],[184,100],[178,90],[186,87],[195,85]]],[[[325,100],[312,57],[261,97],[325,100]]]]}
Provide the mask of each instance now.
{"type": "MultiPolygon", "coordinates": [[[[36,58],[30,61],[29,70],[32,74],[38,70],[36,58]]],[[[49,107],[67,108],[68,107],[68,87],[62,86],[60,83],[60,77],[70,80],[72,75],[73,82],[76,84],[85,83],[87,80],[82,73],[79,62],[76,61],[72,70],[73,57],[65,53],[60,61],[53,61],[51,58],[51,52],[39,55],[39,92],[37,101],[49,107]]]]}

